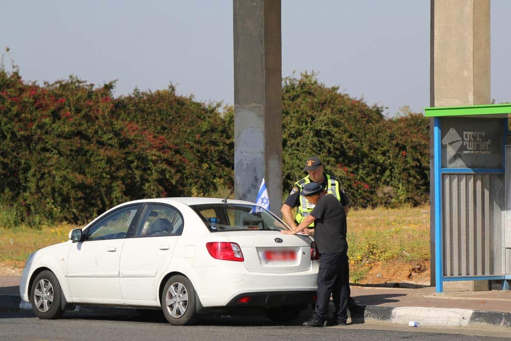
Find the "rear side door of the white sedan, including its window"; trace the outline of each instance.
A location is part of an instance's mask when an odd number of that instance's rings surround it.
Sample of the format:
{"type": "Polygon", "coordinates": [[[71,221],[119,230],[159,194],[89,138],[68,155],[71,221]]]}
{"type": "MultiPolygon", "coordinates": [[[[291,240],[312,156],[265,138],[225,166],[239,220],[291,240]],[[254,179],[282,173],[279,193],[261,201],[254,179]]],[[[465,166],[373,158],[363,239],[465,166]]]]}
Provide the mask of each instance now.
{"type": "Polygon", "coordinates": [[[157,299],[157,285],[167,269],[183,229],[180,212],[165,204],[147,204],[121,255],[121,290],[125,300],[157,299]]]}

